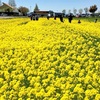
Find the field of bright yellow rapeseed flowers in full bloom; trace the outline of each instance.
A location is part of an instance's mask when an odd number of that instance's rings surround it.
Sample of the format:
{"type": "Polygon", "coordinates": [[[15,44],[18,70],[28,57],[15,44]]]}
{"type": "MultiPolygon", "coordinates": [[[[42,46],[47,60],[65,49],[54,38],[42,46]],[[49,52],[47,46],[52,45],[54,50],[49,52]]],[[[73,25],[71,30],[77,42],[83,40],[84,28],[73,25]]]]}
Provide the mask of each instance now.
{"type": "Polygon", "coordinates": [[[0,100],[100,100],[99,28],[0,19],[0,100]]]}

